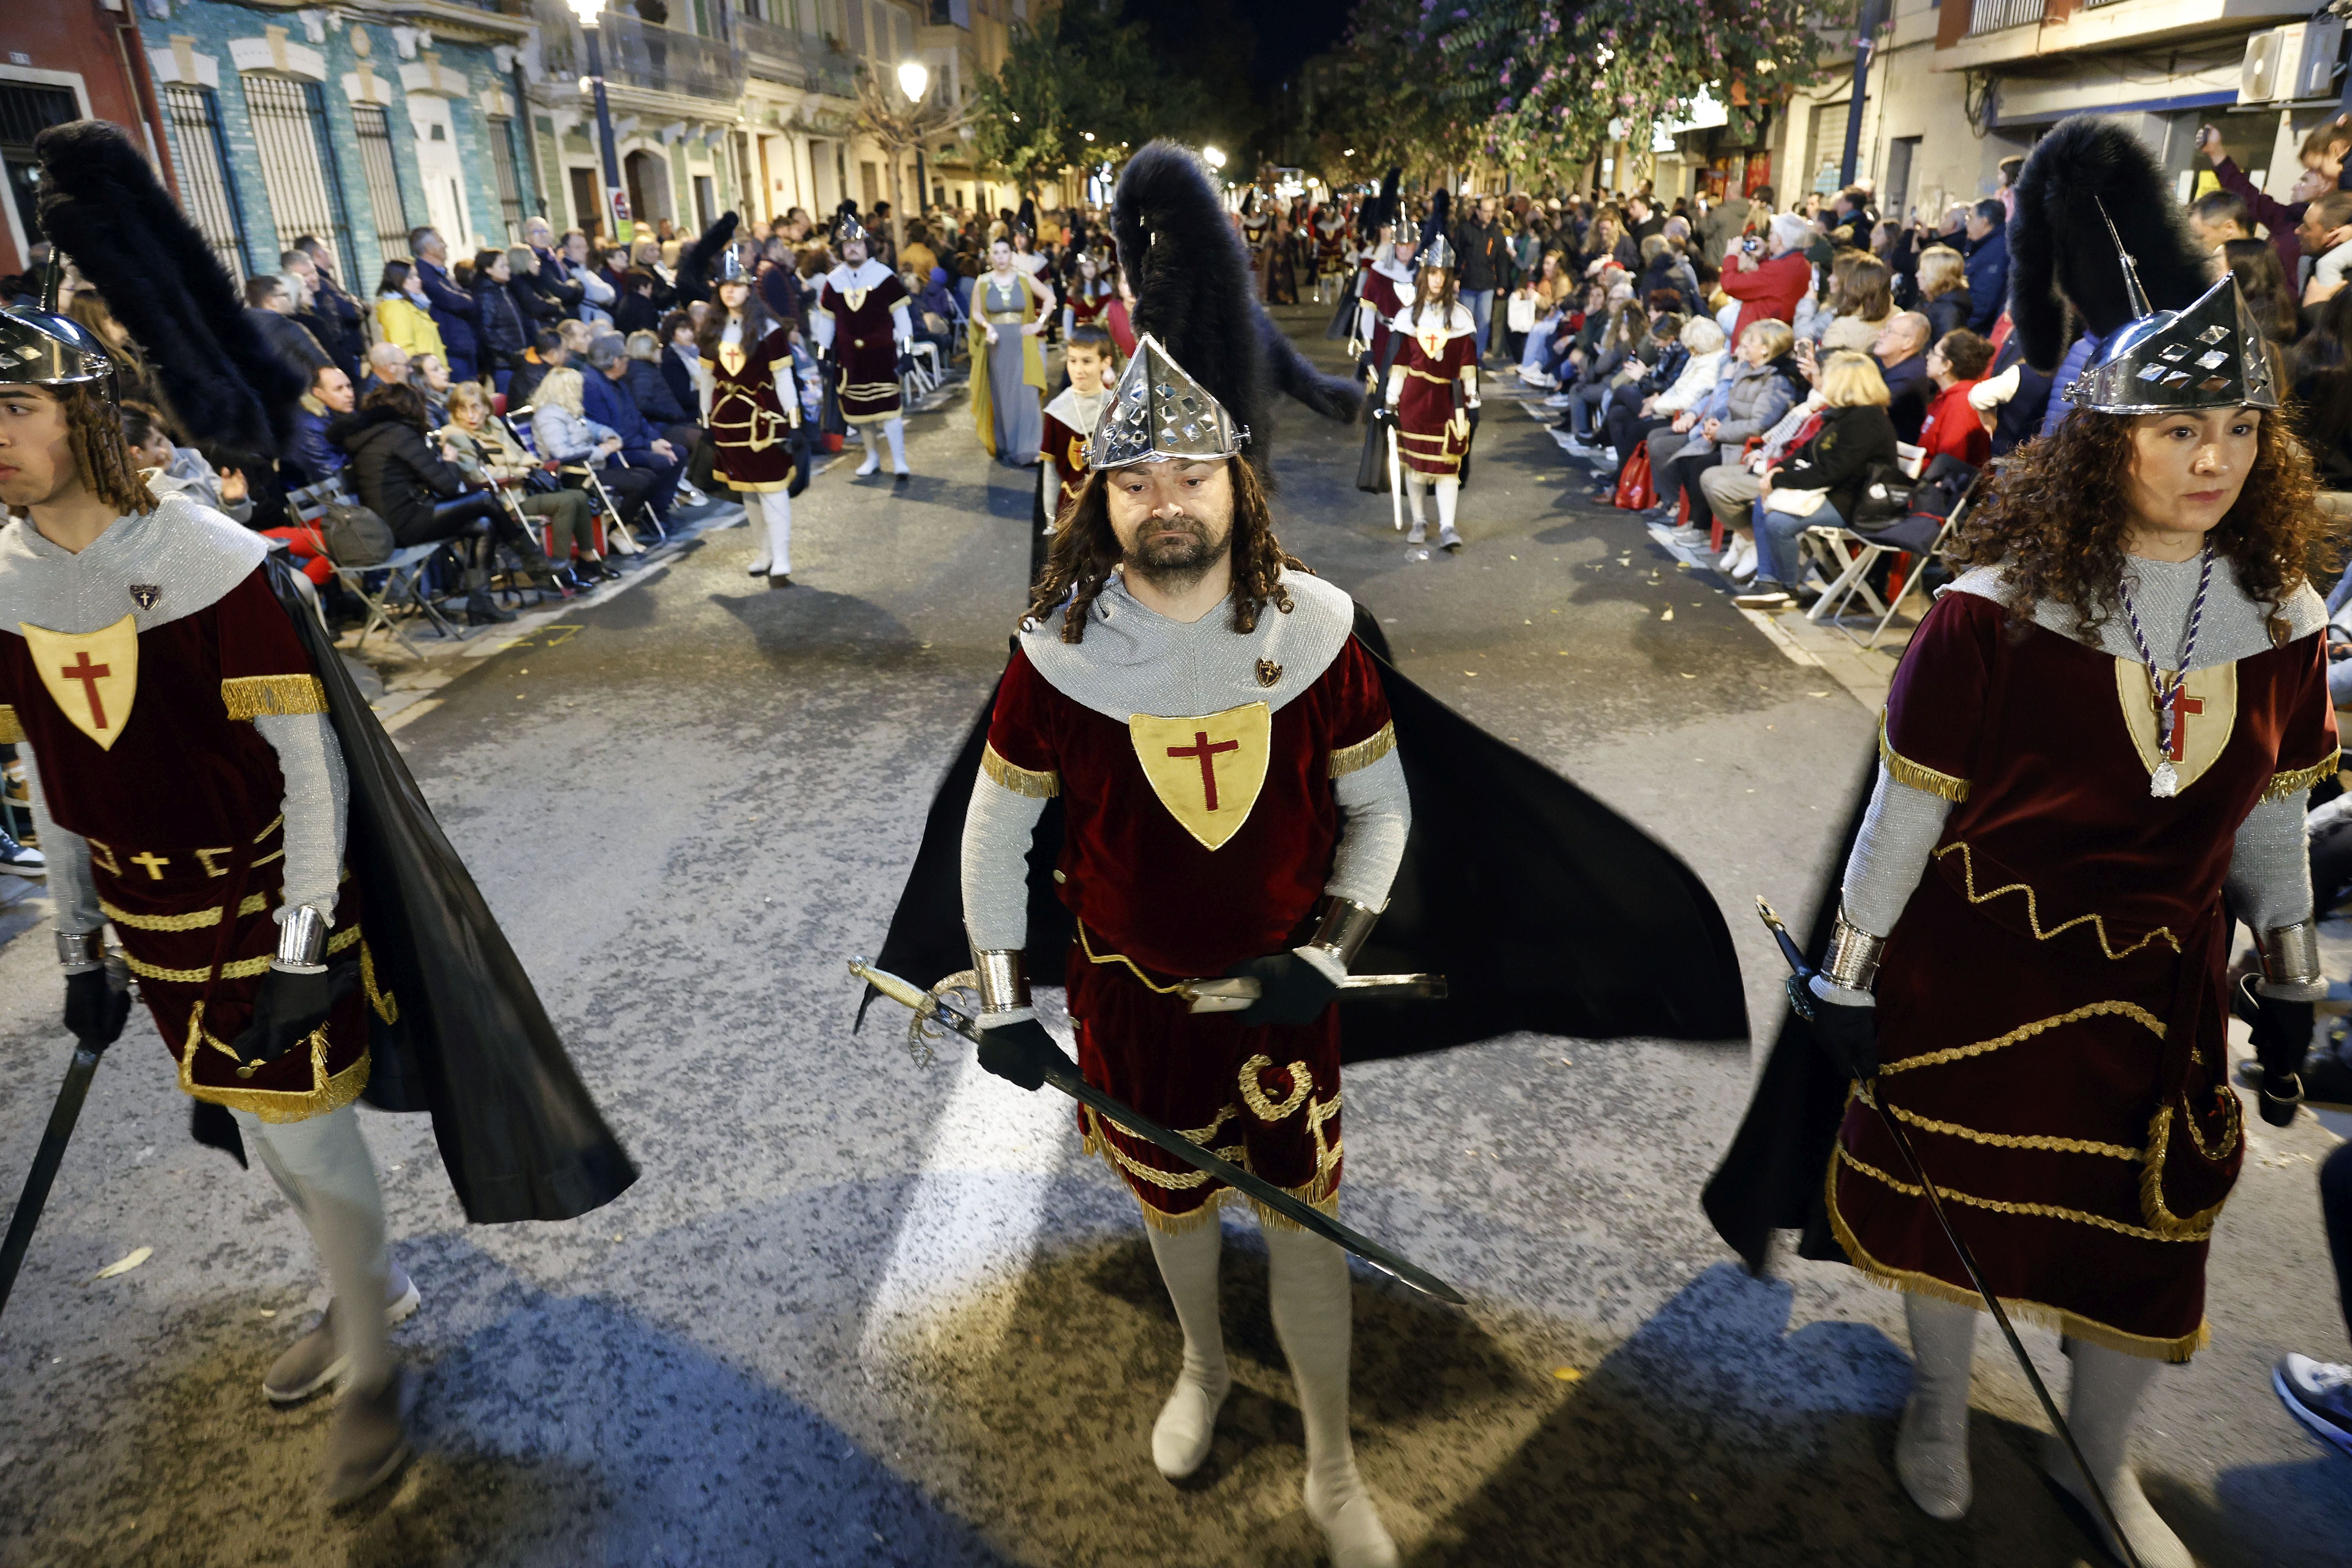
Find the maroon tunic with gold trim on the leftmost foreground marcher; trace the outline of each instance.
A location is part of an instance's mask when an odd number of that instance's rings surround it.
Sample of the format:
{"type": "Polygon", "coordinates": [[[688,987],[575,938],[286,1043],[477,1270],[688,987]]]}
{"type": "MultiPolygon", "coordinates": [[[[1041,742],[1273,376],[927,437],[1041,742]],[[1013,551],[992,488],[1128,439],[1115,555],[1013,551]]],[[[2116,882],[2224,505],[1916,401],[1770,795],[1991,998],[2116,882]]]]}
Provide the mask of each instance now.
{"type": "Polygon", "coordinates": [[[369,999],[386,1023],[393,1018],[367,961],[350,877],[327,950],[360,947],[365,994],[346,997],[308,1048],[294,1046],[252,1077],[238,1077],[228,1046],[252,1020],[278,950],[270,912],[285,903],[285,776],[247,719],[325,710],[318,675],[261,571],[219,602],[139,632],[132,661],[75,654],[68,668],[92,675],[59,691],[42,679],[33,642],[19,628],[0,630],[0,741],[33,745],[49,816],[89,842],[99,900],[179,1063],[179,1086],[263,1121],[348,1105],[367,1086],[369,999]],[[115,663],[134,665],[134,689],[99,684],[101,670],[120,682],[115,663]],[[101,745],[108,733],[113,743],[101,745]],[[223,919],[223,910],[233,914],[223,919]]]}

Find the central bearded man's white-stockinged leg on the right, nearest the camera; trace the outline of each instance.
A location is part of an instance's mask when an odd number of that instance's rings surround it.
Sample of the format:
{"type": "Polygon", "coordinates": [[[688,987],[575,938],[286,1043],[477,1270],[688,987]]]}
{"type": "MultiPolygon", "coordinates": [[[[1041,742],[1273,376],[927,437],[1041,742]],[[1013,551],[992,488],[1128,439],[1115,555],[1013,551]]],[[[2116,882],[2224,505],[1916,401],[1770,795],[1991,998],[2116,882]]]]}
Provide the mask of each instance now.
{"type": "Polygon", "coordinates": [[[1331,1568],[1397,1568],[1397,1542],[1355,1472],[1348,1439],[1348,1255],[1322,1237],[1268,1225],[1265,1260],[1275,1338],[1308,1429],[1308,1519],[1324,1533],[1331,1568]]]}

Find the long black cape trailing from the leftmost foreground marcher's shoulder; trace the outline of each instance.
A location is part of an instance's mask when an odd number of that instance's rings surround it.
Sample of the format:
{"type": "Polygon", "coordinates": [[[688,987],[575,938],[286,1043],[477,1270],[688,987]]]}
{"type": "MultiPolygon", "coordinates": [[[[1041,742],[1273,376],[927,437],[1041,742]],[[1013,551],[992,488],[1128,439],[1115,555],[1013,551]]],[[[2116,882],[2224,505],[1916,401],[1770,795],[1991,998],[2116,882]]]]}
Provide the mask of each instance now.
{"type": "MultiPolygon", "coordinates": [[[[532,978],[343,668],[310,585],[275,557],[268,576],[327,689],[350,776],[346,856],[367,889],[367,947],[400,1013],[393,1025],[369,1013],[365,1100],[433,1114],[449,1185],[475,1225],[569,1220],[609,1204],[637,1180],[637,1166],[597,1114],[532,978]]],[[[200,1140],[238,1152],[226,1112],[198,1103],[195,1117],[200,1140]]]]}

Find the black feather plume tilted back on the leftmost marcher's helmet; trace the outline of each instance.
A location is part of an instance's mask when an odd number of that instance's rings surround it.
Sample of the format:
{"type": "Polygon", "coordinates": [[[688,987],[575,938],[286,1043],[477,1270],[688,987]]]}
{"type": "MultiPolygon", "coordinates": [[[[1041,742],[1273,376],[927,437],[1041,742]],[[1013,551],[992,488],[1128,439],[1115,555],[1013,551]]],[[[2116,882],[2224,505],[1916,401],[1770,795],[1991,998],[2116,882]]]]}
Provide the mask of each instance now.
{"type": "Polygon", "coordinates": [[[294,449],[303,367],[270,350],[205,235],[132,139],[103,120],[33,139],[40,226],[146,353],[188,440],[261,458],[294,449]]]}

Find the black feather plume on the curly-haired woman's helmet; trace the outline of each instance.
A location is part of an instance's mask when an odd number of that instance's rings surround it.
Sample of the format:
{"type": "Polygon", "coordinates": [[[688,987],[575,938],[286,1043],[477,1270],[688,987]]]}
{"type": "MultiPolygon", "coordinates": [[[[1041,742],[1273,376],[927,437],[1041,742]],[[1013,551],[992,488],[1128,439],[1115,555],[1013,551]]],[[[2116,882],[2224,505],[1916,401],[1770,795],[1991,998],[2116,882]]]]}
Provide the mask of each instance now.
{"type": "Polygon", "coordinates": [[[2147,146],[2114,120],[2060,120],[2025,160],[2018,212],[2009,219],[2009,317],[2027,364],[2058,367],[2067,346],[2065,306],[2100,336],[2138,315],[2117,240],[2157,310],[2180,310],[2213,282],[2147,146]]]}

